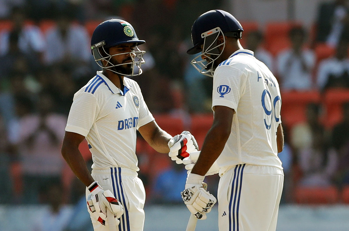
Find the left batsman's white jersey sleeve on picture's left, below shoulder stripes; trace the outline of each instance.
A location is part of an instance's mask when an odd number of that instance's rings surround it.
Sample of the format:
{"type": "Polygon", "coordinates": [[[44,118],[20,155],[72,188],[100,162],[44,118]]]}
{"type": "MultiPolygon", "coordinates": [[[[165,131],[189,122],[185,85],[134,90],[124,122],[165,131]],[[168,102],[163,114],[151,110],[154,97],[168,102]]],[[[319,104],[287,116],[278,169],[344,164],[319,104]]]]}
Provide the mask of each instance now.
{"type": "Polygon", "coordinates": [[[86,137],[96,121],[98,113],[99,106],[95,95],[88,92],[76,93],[69,111],[65,130],[86,137]]]}

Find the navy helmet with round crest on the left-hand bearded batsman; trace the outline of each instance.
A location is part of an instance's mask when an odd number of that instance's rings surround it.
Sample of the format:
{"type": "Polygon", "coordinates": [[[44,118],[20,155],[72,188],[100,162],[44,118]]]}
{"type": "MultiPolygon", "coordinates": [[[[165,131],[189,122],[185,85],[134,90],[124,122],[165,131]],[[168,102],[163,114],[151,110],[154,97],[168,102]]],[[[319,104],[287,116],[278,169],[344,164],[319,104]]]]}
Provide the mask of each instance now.
{"type": "Polygon", "coordinates": [[[146,41],[140,40],[133,26],[120,19],[110,19],[99,24],[94,30],[91,37],[91,52],[97,62],[98,66],[116,72],[120,75],[135,76],[142,74],[141,64],[145,63],[143,59],[143,54],[145,51],[140,51],[137,45],[144,44],[146,41]],[[117,46],[120,44],[134,43],[135,51],[130,53],[133,61],[133,66],[138,67],[138,74],[134,74],[134,69],[132,74],[125,74],[117,71],[118,66],[127,65],[127,63],[113,64],[111,57],[120,54],[110,55],[108,53],[109,47],[117,46]],[[103,66],[102,60],[107,61],[107,66],[103,66]]]}

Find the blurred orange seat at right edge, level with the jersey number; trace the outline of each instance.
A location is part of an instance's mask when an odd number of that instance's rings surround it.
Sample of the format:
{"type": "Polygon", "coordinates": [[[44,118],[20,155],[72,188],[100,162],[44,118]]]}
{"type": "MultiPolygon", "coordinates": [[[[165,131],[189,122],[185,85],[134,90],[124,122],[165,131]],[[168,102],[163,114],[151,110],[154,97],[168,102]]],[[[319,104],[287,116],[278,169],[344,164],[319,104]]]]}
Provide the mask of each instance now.
{"type": "Polygon", "coordinates": [[[332,128],[343,118],[343,103],[349,102],[349,90],[345,88],[328,89],[325,92],[325,123],[327,128],[332,128]]]}

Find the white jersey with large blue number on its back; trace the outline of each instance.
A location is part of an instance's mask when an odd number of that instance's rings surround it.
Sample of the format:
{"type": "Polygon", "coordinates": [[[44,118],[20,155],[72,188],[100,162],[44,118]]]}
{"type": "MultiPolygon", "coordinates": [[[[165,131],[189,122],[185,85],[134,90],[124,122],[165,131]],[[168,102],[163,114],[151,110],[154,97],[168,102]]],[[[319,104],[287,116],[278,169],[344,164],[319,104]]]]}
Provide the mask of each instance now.
{"type": "Polygon", "coordinates": [[[281,123],[279,84],[252,51],[239,49],[219,64],[212,98],[212,109],[226,106],[236,112],[218,165],[222,169],[244,163],[282,169],[276,144],[281,123]]]}

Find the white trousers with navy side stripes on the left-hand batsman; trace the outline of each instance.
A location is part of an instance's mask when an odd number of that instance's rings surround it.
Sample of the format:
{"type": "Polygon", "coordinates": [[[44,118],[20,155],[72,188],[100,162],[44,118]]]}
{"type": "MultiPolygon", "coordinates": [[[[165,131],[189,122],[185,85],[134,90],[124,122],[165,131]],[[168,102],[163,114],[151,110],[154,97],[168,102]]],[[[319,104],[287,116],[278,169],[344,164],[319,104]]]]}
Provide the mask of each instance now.
{"type": "MultiPolygon", "coordinates": [[[[144,202],[146,192],[138,173],[127,168],[92,169],[91,176],[101,184],[104,190],[110,190],[124,206],[118,231],[143,231],[144,202]]],[[[86,197],[90,192],[86,188],[86,197]]],[[[86,204],[87,206],[87,204],[86,204]]],[[[109,231],[109,226],[99,223],[90,213],[95,231],[109,231]]]]}

